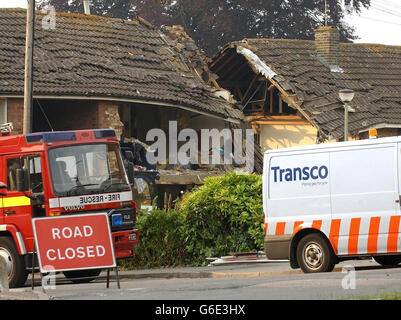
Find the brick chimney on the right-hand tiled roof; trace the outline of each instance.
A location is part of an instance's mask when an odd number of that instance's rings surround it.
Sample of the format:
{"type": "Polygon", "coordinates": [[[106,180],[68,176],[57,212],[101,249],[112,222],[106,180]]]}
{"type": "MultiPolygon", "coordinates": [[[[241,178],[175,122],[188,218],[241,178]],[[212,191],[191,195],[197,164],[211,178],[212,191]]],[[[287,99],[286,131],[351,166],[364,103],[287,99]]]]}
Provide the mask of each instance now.
{"type": "Polygon", "coordinates": [[[340,31],[332,26],[315,30],[317,56],[327,64],[331,71],[340,69],[338,57],[340,52],[340,31]]]}

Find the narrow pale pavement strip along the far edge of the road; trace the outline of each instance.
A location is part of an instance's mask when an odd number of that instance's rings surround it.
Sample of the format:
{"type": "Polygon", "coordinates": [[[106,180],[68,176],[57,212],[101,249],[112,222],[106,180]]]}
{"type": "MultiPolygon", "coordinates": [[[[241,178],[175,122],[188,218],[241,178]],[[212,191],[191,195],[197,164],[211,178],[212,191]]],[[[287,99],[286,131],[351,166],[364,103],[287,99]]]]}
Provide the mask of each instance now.
{"type": "MultiPolygon", "coordinates": [[[[378,268],[379,265],[372,259],[352,260],[337,264],[334,272],[341,272],[344,266],[353,266],[358,268],[378,268]]],[[[269,275],[285,275],[300,274],[300,269],[291,269],[288,261],[264,261],[264,262],[242,262],[227,263],[221,265],[211,265],[205,267],[189,267],[189,268],[162,268],[162,269],[145,269],[145,270],[119,270],[120,280],[124,279],[146,279],[146,278],[222,278],[222,277],[259,277],[269,275]]],[[[103,271],[98,281],[107,279],[106,271],[103,271]]],[[[66,280],[62,273],[57,274],[56,281],[64,282],[66,280]]],[[[115,270],[110,271],[110,282],[116,281],[115,270]]],[[[49,300],[40,289],[40,275],[35,274],[35,290],[31,290],[31,276],[28,277],[26,287],[19,289],[10,289],[7,292],[0,292],[0,300],[49,300]]]]}

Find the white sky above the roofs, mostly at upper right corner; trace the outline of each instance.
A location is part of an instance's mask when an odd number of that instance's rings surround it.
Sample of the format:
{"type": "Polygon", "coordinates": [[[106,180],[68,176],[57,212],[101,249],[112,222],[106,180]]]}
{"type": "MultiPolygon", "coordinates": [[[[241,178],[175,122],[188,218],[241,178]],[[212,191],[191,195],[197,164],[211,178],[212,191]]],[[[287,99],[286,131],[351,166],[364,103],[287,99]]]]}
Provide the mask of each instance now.
{"type": "MultiPolygon", "coordinates": [[[[0,8],[26,8],[27,0],[0,0],[0,8]]],[[[401,1],[371,0],[371,8],[345,21],[356,28],[355,42],[401,46],[401,1]]]]}

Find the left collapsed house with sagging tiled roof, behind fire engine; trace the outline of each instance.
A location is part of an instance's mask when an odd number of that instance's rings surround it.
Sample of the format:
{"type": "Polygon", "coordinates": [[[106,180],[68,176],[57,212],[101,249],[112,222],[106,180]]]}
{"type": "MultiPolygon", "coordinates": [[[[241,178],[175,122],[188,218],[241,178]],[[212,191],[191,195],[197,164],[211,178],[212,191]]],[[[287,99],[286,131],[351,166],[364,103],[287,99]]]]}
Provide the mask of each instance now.
{"type": "MultiPolygon", "coordinates": [[[[196,132],[243,127],[242,112],[221,97],[224,90],[206,85],[207,65],[193,42],[174,39],[173,28],[166,30],[170,37],[140,17],[71,13],[56,13],[49,28],[46,18],[36,13],[34,132],[111,127],[121,140],[151,144],[147,132],[167,133],[169,121],[196,132]]],[[[0,9],[0,122],[12,122],[15,134],[23,123],[25,23],[26,10],[0,9]]],[[[157,169],[159,197],[175,198],[229,168],[157,169]]]]}

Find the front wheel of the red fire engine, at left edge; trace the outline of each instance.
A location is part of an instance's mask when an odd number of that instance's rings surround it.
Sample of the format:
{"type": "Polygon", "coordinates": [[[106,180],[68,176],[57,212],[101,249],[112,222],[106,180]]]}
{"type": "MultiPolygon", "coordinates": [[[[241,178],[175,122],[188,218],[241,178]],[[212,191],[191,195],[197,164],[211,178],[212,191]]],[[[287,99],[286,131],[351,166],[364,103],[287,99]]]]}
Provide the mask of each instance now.
{"type": "Polygon", "coordinates": [[[28,272],[25,269],[24,258],[18,254],[11,238],[0,237],[0,256],[6,261],[9,287],[22,287],[26,282],[28,272]]]}

